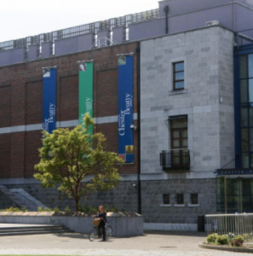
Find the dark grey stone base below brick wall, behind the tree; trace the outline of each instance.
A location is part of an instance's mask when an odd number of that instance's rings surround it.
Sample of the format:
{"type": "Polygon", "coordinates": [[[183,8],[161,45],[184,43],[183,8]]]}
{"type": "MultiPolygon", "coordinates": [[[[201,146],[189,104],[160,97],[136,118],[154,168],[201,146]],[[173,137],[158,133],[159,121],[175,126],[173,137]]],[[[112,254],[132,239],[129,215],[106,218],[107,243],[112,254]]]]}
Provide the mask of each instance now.
{"type": "MultiPolygon", "coordinates": [[[[132,184],[135,182],[121,182],[118,187],[106,192],[96,193],[89,195],[85,201],[80,201],[82,207],[116,207],[119,211],[137,212],[138,210],[138,191],[132,184]]],[[[59,207],[64,210],[70,207],[74,210],[74,201],[69,199],[66,195],[61,195],[57,188],[45,189],[39,183],[30,184],[9,184],[6,185],[8,189],[24,189],[27,193],[41,201],[46,207],[55,208],[59,207]]],[[[0,192],[0,209],[14,206],[12,201],[9,201],[5,195],[0,192]]]]}

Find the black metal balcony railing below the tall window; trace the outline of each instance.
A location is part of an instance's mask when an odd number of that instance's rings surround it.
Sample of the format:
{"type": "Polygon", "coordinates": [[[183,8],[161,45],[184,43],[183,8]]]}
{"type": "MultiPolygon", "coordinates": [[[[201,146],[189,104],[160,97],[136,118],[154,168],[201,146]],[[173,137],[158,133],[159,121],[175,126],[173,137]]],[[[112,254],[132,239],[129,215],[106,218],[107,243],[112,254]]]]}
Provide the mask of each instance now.
{"type": "Polygon", "coordinates": [[[163,151],[160,154],[160,165],[164,171],[189,171],[190,152],[188,149],[163,151]]]}

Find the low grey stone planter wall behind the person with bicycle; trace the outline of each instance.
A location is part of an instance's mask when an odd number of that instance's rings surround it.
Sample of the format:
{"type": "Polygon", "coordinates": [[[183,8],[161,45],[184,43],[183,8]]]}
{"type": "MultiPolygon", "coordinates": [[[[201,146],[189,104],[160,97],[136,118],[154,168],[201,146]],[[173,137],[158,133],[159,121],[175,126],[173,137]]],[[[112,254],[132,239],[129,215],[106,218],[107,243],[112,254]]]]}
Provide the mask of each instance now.
{"type": "MultiPolygon", "coordinates": [[[[112,236],[142,236],[143,218],[137,213],[107,213],[109,225],[112,226],[112,236]]],[[[0,212],[2,224],[55,224],[78,233],[88,234],[92,228],[90,216],[55,216],[53,212],[0,212]]]]}

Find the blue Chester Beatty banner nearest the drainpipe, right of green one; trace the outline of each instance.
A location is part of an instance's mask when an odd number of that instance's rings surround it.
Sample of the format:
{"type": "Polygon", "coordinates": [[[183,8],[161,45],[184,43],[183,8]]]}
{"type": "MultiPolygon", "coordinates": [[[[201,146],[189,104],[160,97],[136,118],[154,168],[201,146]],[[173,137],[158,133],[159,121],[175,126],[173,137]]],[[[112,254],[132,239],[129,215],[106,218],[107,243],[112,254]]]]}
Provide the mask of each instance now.
{"type": "Polygon", "coordinates": [[[134,58],[118,59],[118,156],[127,163],[134,162],[133,114],[134,58]]]}

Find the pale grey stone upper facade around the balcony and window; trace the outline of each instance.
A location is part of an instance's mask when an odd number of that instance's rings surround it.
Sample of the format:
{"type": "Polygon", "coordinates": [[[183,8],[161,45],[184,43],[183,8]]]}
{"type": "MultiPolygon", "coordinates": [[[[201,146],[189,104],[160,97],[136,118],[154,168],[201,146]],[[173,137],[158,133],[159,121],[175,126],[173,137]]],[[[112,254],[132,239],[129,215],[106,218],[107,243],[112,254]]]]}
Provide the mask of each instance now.
{"type": "Polygon", "coordinates": [[[217,26],[141,42],[141,173],[163,172],[159,154],[170,150],[168,118],[177,115],[188,118],[187,177],[215,177],[234,158],[233,32],[217,26]],[[185,63],[180,91],[172,89],[177,61],[185,63]]]}

